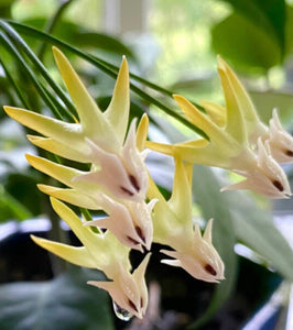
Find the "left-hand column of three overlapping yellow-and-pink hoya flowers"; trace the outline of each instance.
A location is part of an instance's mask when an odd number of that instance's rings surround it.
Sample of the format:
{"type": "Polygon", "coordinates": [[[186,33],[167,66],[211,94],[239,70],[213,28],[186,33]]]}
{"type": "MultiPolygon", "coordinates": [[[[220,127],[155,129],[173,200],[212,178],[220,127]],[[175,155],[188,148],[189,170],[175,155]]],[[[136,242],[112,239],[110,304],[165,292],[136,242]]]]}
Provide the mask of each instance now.
{"type": "Polygon", "coordinates": [[[150,254],[131,273],[129,253],[131,249],[150,250],[153,238],[151,210],[155,200],[145,202],[145,153],[137,148],[135,120],[127,134],[130,109],[127,61],[122,61],[111,102],[102,112],[64,54],[54,48],[54,56],[78,112],[76,123],[18,108],[6,107],[4,110],[43,135],[29,135],[33,144],[64,158],[89,164],[86,172],[26,155],[33,167],[67,186],[40,185],[40,189],[52,196],[53,208],[76,233],[83,248],[39,238],[33,240],[68,262],[102,271],[109,282],[89,284],[108,290],[119,309],[142,318],[148,306],[144,272],[150,254]],[[90,210],[104,210],[108,216],[83,223],[59,200],[90,210]],[[95,233],[90,227],[106,231],[95,233]]]}

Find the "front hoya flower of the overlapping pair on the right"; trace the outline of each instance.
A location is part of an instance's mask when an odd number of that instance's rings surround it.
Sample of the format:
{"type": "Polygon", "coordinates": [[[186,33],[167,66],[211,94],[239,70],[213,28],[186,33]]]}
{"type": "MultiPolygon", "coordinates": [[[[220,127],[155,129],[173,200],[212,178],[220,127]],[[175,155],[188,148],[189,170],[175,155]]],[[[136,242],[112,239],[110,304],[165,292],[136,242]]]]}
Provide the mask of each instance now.
{"type": "MultiPolygon", "coordinates": [[[[289,141],[291,136],[275,124],[276,112],[270,129],[273,133],[270,133],[259,120],[245,88],[221,58],[218,72],[226,108],[203,102],[207,112],[203,113],[184,97],[174,96],[187,119],[202,129],[209,141],[198,139],[175,145],[146,142],[146,146],[169,155],[178,154],[182,160],[194,164],[230,169],[246,178],[226,189],[251,189],[271,198],[287,198],[291,196],[290,185],[274,155],[276,150],[283,148],[280,142],[275,142],[276,134],[282,135],[282,141],[289,141]],[[273,141],[275,145],[271,147],[273,141]]],[[[291,154],[291,151],[285,153],[291,154]]]]}

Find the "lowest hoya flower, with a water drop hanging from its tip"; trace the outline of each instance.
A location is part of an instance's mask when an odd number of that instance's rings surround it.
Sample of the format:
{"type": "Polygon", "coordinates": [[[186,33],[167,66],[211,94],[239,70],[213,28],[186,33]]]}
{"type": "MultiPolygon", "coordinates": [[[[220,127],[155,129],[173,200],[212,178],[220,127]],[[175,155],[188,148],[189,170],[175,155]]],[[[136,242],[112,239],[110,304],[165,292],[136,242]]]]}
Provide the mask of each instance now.
{"type": "Polygon", "coordinates": [[[52,198],[52,206],[56,213],[70,227],[83,246],[70,246],[32,235],[33,241],[69,263],[104,272],[109,280],[89,280],[88,284],[107,290],[120,309],[142,318],[148,306],[144,273],[150,253],[131,273],[130,249],[122,245],[110,231],[95,233],[89,227],[83,226],[73,210],[55,198],[52,198]]]}

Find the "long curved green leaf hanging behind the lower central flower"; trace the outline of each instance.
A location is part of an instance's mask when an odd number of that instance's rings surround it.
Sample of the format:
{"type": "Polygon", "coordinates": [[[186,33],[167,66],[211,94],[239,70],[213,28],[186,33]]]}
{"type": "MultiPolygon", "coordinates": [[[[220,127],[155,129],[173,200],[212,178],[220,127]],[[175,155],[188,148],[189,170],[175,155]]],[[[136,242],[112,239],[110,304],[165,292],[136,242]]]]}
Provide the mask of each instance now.
{"type": "Polygon", "coordinates": [[[221,194],[219,183],[209,167],[194,167],[193,193],[202,207],[206,220],[214,219],[213,244],[225,263],[226,279],[216,286],[213,299],[206,312],[191,329],[197,329],[224,305],[229,298],[237,276],[237,257],[234,252],[235,232],[229,202],[221,194]]]}

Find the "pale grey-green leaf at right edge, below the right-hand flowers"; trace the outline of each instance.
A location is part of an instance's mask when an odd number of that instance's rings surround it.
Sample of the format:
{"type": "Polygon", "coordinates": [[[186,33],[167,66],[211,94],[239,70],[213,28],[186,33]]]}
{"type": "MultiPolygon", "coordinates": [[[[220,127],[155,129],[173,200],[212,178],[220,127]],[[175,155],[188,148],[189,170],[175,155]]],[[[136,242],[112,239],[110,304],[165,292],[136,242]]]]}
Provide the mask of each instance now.
{"type": "Polygon", "coordinates": [[[284,278],[293,280],[293,251],[276,229],[269,211],[261,210],[243,191],[226,191],[236,237],[260,254],[284,278]]]}

